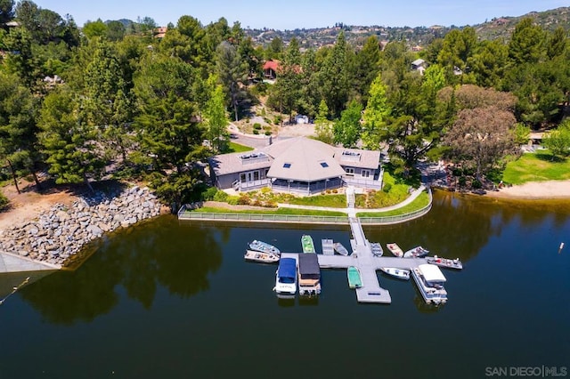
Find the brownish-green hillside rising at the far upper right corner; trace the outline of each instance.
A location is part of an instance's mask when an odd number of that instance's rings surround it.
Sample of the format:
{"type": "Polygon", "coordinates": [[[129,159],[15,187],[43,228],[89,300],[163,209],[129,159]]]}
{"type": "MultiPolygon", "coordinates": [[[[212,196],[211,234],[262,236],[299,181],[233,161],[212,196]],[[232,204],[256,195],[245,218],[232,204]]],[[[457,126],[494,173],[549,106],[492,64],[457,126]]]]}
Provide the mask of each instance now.
{"type": "Polygon", "coordinates": [[[570,30],[570,7],[562,7],[544,12],[530,12],[519,17],[501,17],[493,19],[483,24],[474,25],[477,36],[481,39],[501,38],[508,40],[515,30],[518,21],[527,17],[532,17],[537,25],[546,30],[554,30],[562,27],[566,31],[570,30]]]}

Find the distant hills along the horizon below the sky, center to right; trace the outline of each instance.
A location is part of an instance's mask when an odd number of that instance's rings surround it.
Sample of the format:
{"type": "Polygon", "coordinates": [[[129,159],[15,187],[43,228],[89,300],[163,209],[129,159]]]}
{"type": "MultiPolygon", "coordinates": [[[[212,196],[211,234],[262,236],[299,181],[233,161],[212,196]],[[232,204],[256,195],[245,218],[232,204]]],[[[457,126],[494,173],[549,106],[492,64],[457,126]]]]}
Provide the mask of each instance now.
{"type": "MultiPolygon", "coordinates": [[[[554,30],[558,26],[570,30],[570,7],[553,9],[545,12],[530,12],[519,17],[494,18],[483,24],[472,25],[476,29],[480,39],[501,38],[508,40],[517,22],[532,17],[542,28],[554,30]]],[[[302,28],[295,30],[275,30],[275,29],[245,29],[248,36],[251,36],[257,44],[269,44],[273,38],[280,37],[288,44],[292,37],[296,37],[302,48],[318,48],[328,44],[334,44],[338,33],[345,31],[346,41],[349,44],[361,46],[366,38],[376,35],[379,41],[387,43],[389,41],[403,40],[414,48],[416,46],[426,46],[435,38],[444,37],[455,26],[432,26],[432,27],[380,27],[380,26],[347,26],[343,24],[335,25],[331,28],[302,28]]],[[[464,27],[460,27],[464,28],[464,27]]]]}

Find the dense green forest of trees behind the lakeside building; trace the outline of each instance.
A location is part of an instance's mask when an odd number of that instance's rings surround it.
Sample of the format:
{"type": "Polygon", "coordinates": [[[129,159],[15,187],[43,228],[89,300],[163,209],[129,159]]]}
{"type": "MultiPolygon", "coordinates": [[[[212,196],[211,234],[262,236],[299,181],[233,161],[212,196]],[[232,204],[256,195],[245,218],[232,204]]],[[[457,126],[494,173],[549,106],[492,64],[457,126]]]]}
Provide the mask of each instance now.
{"type": "Polygon", "coordinates": [[[226,151],[230,120],[260,101],[313,118],[322,141],[388,146],[400,173],[445,157],[485,181],[531,130],[554,130],[545,144],[561,156],[570,146],[568,34],[530,18],[507,41],[454,28],[421,52],[377,36],[355,47],[342,30],[319,49],[256,44],[239,22],[190,15],[164,35],[151,17],[79,28],[29,0],[0,0],[0,25],[0,159],[16,185],[111,176],[148,181],[168,202],[199,198],[196,163],[226,151]],[[266,60],[279,60],[271,83],[266,60]]]}

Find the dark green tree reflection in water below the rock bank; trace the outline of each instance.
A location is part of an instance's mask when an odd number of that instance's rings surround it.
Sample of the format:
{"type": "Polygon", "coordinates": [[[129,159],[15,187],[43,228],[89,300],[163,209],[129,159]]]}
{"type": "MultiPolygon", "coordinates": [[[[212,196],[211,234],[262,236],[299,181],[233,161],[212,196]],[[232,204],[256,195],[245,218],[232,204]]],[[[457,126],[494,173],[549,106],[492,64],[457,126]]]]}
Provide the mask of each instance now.
{"type": "Polygon", "coordinates": [[[165,216],[110,236],[79,269],[57,272],[21,291],[53,323],[91,321],[119,299],[117,286],[150,309],[158,286],[189,297],[209,287],[208,275],[222,264],[222,251],[209,228],[180,228],[165,216]]]}

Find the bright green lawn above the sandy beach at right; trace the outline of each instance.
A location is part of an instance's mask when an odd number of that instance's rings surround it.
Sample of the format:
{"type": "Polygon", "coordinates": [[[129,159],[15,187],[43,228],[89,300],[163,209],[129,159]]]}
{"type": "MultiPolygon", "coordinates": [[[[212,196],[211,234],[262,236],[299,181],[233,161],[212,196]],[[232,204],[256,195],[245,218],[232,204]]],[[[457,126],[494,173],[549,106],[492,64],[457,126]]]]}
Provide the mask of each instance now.
{"type": "Polygon", "coordinates": [[[523,154],[516,161],[509,162],[502,174],[502,180],[509,184],[568,179],[570,179],[570,158],[552,161],[548,151],[523,154]]]}

